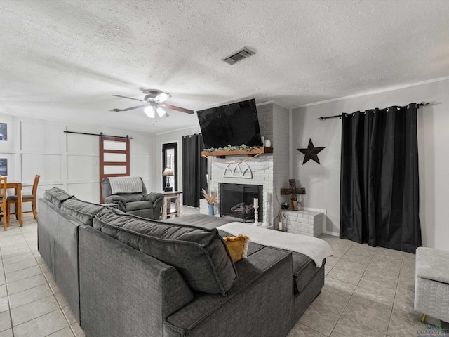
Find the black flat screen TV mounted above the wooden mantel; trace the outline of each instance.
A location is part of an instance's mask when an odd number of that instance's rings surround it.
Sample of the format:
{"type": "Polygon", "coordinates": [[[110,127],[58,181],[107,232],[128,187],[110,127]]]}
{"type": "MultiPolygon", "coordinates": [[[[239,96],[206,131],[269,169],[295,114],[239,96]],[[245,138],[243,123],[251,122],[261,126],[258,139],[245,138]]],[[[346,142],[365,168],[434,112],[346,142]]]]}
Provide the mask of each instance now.
{"type": "Polygon", "coordinates": [[[262,146],[255,100],[197,111],[204,146],[262,146]]]}

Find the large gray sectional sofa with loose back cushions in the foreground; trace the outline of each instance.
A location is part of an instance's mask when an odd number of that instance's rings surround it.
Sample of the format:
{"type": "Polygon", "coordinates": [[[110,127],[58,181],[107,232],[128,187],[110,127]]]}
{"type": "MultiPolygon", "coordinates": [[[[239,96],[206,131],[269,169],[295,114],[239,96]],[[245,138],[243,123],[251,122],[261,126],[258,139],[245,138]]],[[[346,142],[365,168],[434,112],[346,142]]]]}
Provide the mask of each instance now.
{"type": "Polygon", "coordinates": [[[88,337],[286,336],[324,263],[254,243],[233,263],[225,222],[148,220],[54,187],[39,199],[38,246],[88,337]]]}

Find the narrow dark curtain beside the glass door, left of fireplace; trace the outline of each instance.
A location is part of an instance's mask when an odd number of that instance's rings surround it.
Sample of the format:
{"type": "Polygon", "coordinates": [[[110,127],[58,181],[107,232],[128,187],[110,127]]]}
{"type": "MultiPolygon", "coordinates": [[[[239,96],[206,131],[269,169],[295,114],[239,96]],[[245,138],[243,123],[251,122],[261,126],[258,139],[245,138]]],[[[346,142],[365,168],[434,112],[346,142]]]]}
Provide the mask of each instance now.
{"type": "Polygon", "coordinates": [[[203,197],[201,189],[207,190],[207,159],[201,157],[204,149],[203,136],[182,136],[182,204],[199,207],[203,197]]]}

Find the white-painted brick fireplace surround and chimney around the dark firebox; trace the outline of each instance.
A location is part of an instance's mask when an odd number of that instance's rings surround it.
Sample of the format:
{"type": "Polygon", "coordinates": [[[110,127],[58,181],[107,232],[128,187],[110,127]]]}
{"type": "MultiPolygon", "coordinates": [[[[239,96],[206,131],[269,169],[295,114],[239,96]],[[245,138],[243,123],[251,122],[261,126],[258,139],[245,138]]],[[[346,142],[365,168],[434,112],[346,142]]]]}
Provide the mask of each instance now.
{"type": "MultiPolygon", "coordinates": [[[[272,142],[272,153],[248,158],[246,154],[208,157],[208,190],[216,191],[221,201],[220,183],[236,185],[260,185],[259,221],[274,225],[274,218],[281,208],[280,203],[288,201],[280,194],[281,187],[288,185],[289,177],[289,112],[276,103],[257,105],[260,133],[272,142]]],[[[215,214],[220,214],[216,204],[215,214]]],[[[200,213],[208,213],[208,204],[200,199],[200,213]]],[[[243,221],[243,220],[242,220],[243,221]]],[[[254,221],[254,219],[248,221],[254,221]]]]}

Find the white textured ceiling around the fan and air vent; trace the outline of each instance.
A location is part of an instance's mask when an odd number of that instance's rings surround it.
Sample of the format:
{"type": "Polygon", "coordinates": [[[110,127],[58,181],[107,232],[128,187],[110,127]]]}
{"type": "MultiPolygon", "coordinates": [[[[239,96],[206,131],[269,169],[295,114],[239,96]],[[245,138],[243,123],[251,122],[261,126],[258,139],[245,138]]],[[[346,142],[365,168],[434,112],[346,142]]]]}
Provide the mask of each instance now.
{"type": "Polygon", "coordinates": [[[140,88],[201,110],[246,98],[298,107],[449,76],[449,1],[1,0],[0,113],[136,131],[140,88]],[[247,46],[257,54],[228,65],[247,46]],[[137,104],[135,104],[137,103],[137,104]]]}

